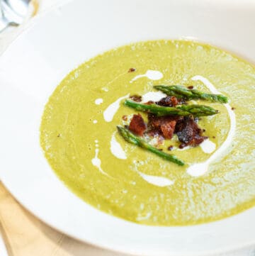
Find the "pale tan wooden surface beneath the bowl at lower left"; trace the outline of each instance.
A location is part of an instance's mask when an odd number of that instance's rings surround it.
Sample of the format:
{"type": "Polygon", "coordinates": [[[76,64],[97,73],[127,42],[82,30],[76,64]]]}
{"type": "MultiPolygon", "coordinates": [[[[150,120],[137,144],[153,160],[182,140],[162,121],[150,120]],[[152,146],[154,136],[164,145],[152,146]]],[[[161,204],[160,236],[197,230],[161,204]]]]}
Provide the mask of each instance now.
{"type": "Polygon", "coordinates": [[[9,256],[123,256],[50,228],[18,204],[1,183],[0,223],[9,256]]]}

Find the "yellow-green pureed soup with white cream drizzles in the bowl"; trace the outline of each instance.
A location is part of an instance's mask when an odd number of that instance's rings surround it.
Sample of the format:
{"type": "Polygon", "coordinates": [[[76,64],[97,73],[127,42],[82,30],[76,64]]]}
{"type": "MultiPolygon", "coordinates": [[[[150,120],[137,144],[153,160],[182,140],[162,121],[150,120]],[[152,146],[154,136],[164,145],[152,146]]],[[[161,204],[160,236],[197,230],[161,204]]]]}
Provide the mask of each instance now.
{"type": "Polygon", "coordinates": [[[210,45],[182,40],[126,45],[62,80],[45,106],[40,143],[64,184],[101,211],[159,226],[218,220],[255,204],[254,84],[254,66],[210,45]],[[148,129],[152,115],[123,103],[160,101],[166,94],[155,85],[228,98],[227,104],[191,99],[176,106],[220,111],[186,117],[207,137],[198,145],[180,148],[178,133],[171,139],[135,135],[184,165],[128,143],[118,132],[117,126],[130,131],[138,113],[148,129]]]}

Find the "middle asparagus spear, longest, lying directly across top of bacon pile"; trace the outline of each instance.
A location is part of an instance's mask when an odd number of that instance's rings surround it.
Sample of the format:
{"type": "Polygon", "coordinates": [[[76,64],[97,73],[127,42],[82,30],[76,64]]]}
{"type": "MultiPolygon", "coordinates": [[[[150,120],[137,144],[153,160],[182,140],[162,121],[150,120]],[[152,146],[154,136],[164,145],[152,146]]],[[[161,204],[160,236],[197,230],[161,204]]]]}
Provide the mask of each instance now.
{"type": "Polygon", "coordinates": [[[129,99],[126,99],[124,104],[130,108],[135,108],[137,111],[154,113],[157,116],[212,116],[219,113],[216,109],[205,105],[181,105],[173,108],[157,104],[140,104],[129,99]]]}

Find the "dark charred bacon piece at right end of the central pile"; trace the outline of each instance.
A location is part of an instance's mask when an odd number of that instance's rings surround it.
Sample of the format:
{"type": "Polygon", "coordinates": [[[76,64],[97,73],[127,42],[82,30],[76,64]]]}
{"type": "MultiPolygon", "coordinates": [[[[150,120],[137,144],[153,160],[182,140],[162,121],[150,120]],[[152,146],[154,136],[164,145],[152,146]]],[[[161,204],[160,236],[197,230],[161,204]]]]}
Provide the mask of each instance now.
{"type": "Polygon", "coordinates": [[[177,121],[175,133],[181,141],[179,148],[184,148],[188,145],[196,147],[208,138],[202,136],[203,130],[201,130],[194,119],[189,116],[177,121]]]}

